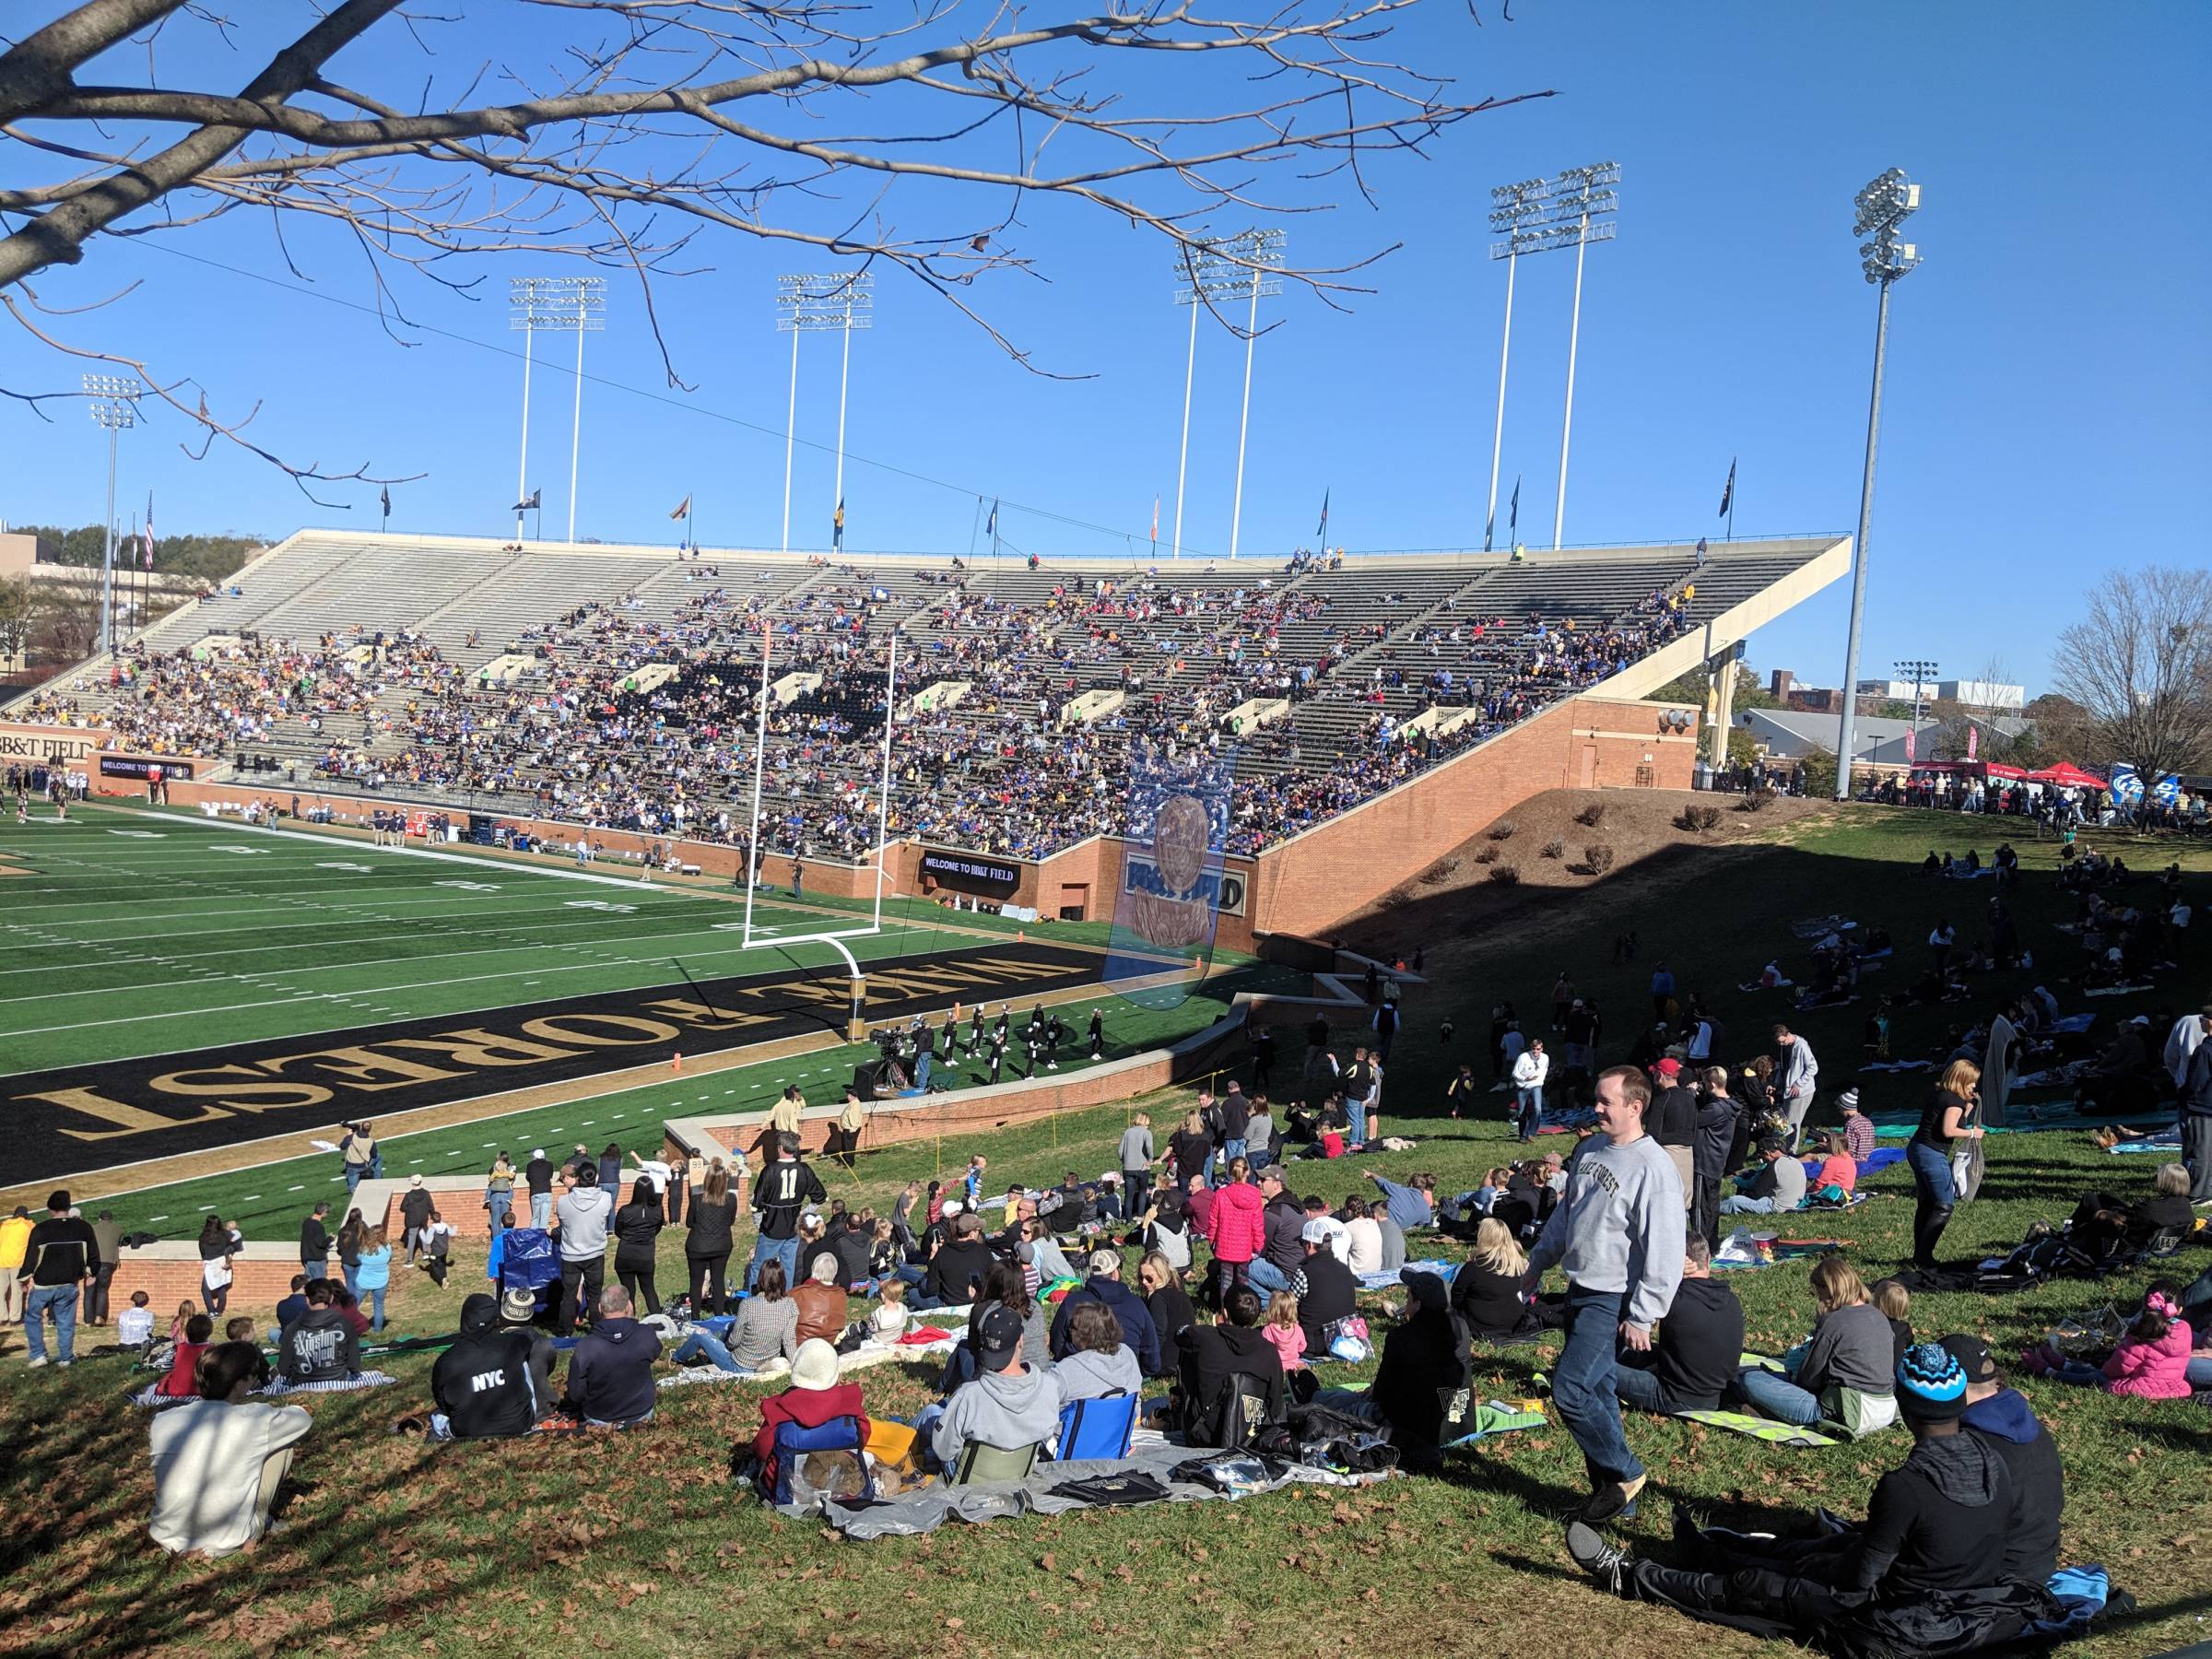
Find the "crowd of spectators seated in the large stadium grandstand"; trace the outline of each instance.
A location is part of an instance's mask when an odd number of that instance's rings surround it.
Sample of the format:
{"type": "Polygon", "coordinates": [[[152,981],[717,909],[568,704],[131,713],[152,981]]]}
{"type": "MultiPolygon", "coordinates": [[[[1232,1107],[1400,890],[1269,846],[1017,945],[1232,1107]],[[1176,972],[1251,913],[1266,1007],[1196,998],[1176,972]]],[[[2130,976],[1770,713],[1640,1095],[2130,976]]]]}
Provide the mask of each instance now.
{"type": "MultiPolygon", "coordinates": [[[[958,566],[958,562],[956,562],[958,566]]],[[[126,648],[108,697],[42,690],[22,719],[102,721],[115,745],[268,765],[292,752],[323,785],[489,796],[588,827],[743,841],[732,805],[754,770],[761,628],[796,690],[768,712],[768,799],[754,856],[865,858],[876,843],[885,690],[898,641],[898,743],[887,830],[1037,858],[1121,832],[1146,776],[1230,768],[1219,825],[1250,854],[1542,712],[1690,626],[1694,584],[1626,615],[1475,615],[1276,584],[1068,575],[1004,595],[964,566],[891,595],[825,566],[796,595],[692,573],[659,615],[635,593],[524,628],[522,675],[465,670],[411,630],[354,626],[316,641],[241,635],[148,655],[126,648]],[[1374,615],[1378,611],[1378,615],[1374,615]],[[1358,615],[1354,615],[1358,613],[1358,615]],[[964,684],[960,697],[914,699],[964,684]],[[1071,714],[1088,690],[1119,708],[1071,714]],[[1283,699],[1287,719],[1239,717],[1283,699]],[[1305,719],[1340,706],[1349,723],[1305,719]],[[1363,708],[1371,714],[1360,714],[1363,708]],[[1473,710],[1447,734],[1418,717],[1473,710]]],[[[763,573],[765,582],[765,573],[763,573]]],[[[299,781],[299,779],[294,779],[299,781]]]]}

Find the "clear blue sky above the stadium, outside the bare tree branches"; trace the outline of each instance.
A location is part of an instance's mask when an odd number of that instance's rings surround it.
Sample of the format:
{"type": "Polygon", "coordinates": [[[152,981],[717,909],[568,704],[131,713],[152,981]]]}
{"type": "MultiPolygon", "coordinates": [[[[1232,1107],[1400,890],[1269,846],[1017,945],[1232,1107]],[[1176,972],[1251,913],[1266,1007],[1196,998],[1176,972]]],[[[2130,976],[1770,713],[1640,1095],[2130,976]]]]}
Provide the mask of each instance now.
{"type": "MultiPolygon", "coordinates": [[[[436,69],[473,66],[487,31],[542,15],[480,7],[438,35],[436,69]]],[[[1741,535],[1851,529],[1874,341],[1851,195],[1902,166],[1924,186],[1909,234],[1927,263],[1893,303],[1863,672],[1913,655],[1947,675],[2002,659],[2039,688],[2055,619],[2099,573],[2203,557],[2212,234],[2192,197],[2212,161],[2212,11],[1522,0],[1511,24],[1489,4],[1484,18],[1416,13],[1400,51],[1469,95],[1557,97],[1480,115],[1429,159],[1376,166],[1374,208],[1332,181],[1298,199],[1334,210],[1285,221],[1292,252],[1316,263],[1402,246],[1349,314],[1305,294],[1263,305],[1283,325],[1256,354],[1245,557],[1310,542],[1325,489],[1332,542],[1349,549],[1480,546],[1504,299],[1489,186],[1608,157],[1624,168],[1619,237],[1590,250],[1584,279],[1568,542],[1719,535],[1730,458],[1741,535]]],[[[201,62],[230,77],[246,58],[201,62]]],[[[425,64],[365,42],[341,69],[414,86],[425,64]]],[[[967,210],[905,206],[907,223],[931,219],[967,210]]],[[[294,237],[312,294],[259,223],[164,246],[111,239],[49,274],[49,305],[139,283],[58,327],[195,374],[219,409],[259,400],[257,436],[288,456],[427,473],[394,489],[398,529],[511,529],[520,341],[504,305],[400,279],[414,319],[460,336],[416,334],[407,349],[330,303],[372,299],[334,239],[294,237]]],[[[1095,378],[1026,374],[927,292],[880,276],[878,325],[854,343],[849,546],[964,553],[978,495],[1004,498],[1006,540],[1046,555],[1144,551],[1159,495],[1166,542],[1186,349],[1166,248],[1066,204],[1033,206],[1022,248],[1051,281],[1002,279],[980,305],[1042,363],[1095,378]]],[[[586,385],[580,533],[672,540],[668,509],[692,493],[708,544],[772,546],[787,392],[772,285],[810,261],[723,232],[695,254],[708,270],[655,294],[690,392],[664,385],[637,290],[613,274],[586,367],[617,385],[586,385]]],[[[482,270],[489,290],[564,265],[482,270]]],[[[1522,478],[1533,546],[1551,533],[1571,283],[1571,252],[1526,261],[1515,301],[1500,493],[1522,478]]],[[[1230,538],[1241,358],[1201,325],[1183,540],[1203,553],[1230,538]]],[[[7,385],[73,378],[0,336],[7,385]]],[[[549,531],[566,518],[571,396],[566,372],[540,367],[531,482],[549,531]]],[[[799,405],[794,544],[821,546],[834,341],[807,341],[799,405]]],[[[374,489],[338,491],[354,509],[327,513],[223,447],[195,465],[184,436],[157,416],[124,442],[122,500],[153,489],[166,531],[374,524],[374,489]]],[[[0,515],[100,515],[104,453],[77,409],[49,427],[4,407],[0,445],[0,515]]],[[[1838,584],[1801,606],[1752,641],[1752,661],[1832,681],[1845,604],[1838,584]]]]}

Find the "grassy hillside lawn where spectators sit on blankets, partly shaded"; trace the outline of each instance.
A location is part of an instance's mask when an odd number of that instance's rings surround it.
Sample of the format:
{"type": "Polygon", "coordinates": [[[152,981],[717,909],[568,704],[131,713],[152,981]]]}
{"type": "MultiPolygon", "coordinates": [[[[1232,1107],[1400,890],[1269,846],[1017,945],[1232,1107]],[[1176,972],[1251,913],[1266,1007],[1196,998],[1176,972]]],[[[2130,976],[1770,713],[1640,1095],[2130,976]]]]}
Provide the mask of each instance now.
{"type": "MultiPolygon", "coordinates": [[[[1358,1166],[1298,1166],[1298,1188],[1334,1201],[1360,1188],[1363,1168],[1433,1170],[1444,1186],[1473,1186],[1509,1148],[1502,1104],[1484,1121],[1447,1121],[1436,1108],[1442,1082],[1462,1057],[1486,1066],[1482,1033],[1495,1000],[1511,998],[1542,1026],[1548,1009],[1540,1004],[1562,967],[1608,1009],[1608,1053],[1619,1053],[1648,1015],[1655,958],[1670,960],[1686,989],[1708,991],[1730,1024],[1730,1053],[1763,1044],[1785,1000],[1734,987],[1770,956],[1798,949],[1787,931],[1794,916],[1845,911],[1889,927],[1900,940],[1891,975],[1902,980],[1938,909],[1953,914],[1964,938],[1975,931],[1986,883],[1944,889],[1916,869],[1931,845],[1964,852],[1969,836],[1984,856],[1995,841],[1991,825],[1971,818],[1847,810],[1759,825],[1721,847],[1686,834],[1606,883],[1515,894],[1484,887],[1464,900],[1422,894],[1383,914],[1367,929],[1374,942],[1425,949],[1431,975],[1409,1000],[1385,1088],[1387,1128],[1420,1146],[1358,1166]],[[1613,964],[1613,938],[1630,927],[1641,958],[1613,964]]],[[[1940,1044],[1949,1024],[1980,1018],[1984,1002],[2015,982],[2051,982],[2068,1009],[2137,1011],[2128,1000],[2081,1004],[2068,993],[2066,938],[2051,931],[2068,911],[2053,889],[2053,852],[2017,836],[2015,845],[2028,869],[2020,911],[2039,967],[1991,975],[1971,1004],[1900,1018],[1900,1053],[1940,1044]]],[[[2132,845],[2128,852],[2135,860],[2132,845]]],[[[2161,863],[2166,856],[2157,852],[2161,863]]],[[[2212,860],[2192,852],[2183,863],[2201,900],[2212,860]]],[[[1878,982],[1869,978],[1869,987],[1878,982]]],[[[2188,973],[2141,1004],[2146,1013],[2188,1004],[2203,989],[2199,947],[2188,973]]],[[[1863,1013],[1865,1004],[1792,1022],[1823,1055],[1829,1091],[1854,1064],[1863,1013]]],[[[1905,1108],[1918,1091],[1902,1079],[1869,1084],[1867,1097],[1876,1110],[1905,1108]]],[[[942,1157],[953,1168],[958,1155],[987,1150],[993,1179],[1006,1181],[1044,1183],[1066,1168],[1093,1175],[1113,1161],[1124,1121],[1124,1108],[1099,1108],[945,1148],[942,1157]]],[[[883,1203],[933,1164],[936,1148],[894,1148],[865,1157],[858,1175],[836,1186],[849,1201],[883,1203]]],[[[2081,1190],[2141,1192],[2150,1177],[2150,1159],[2108,1157],[2077,1130],[1993,1137],[1989,1164],[1984,1197],[1960,1210],[1947,1254],[2013,1243],[2028,1223],[2064,1217],[2081,1190]]],[[[1889,1272],[1907,1252],[1911,1186],[1891,1170],[1871,1190],[1876,1201],[1840,1221],[1785,1217],[1778,1230],[1840,1232],[1869,1279],[1889,1272]]],[[[664,1248],[664,1290],[677,1281],[677,1241],[664,1248]]],[[[2177,1265],[2194,1274],[2212,1265],[2212,1252],[2194,1250],[2177,1265]]],[[[398,1276],[398,1329],[451,1329],[476,1283],[476,1263],[462,1263],[442,1292],[398,1276]]],[[[1752,1345],[1781,1349],[1809,1325],[1803,1265],[1732,1283],[1752,1345]]],[[[2011,1360],[2057,1318],[2106,1301],[2126,1305],[2143,1283],[2146,1274],[2128,1274],[2008,1298],[1929,1296],[1913,1325],[1929,1338],[1980,1332],[2011,1360]]],[[[1374,1298],[1378,1316],[1383,1307],[1385,1298],[1374,1298]]],[[[1559,1546],[1557,1513],[1579,1493],[1582,1471],[1557,1427],[1455,1453],[1440,1480],[949,1526],[925,1540],[858,1546],[763,1513],[730,1484],[728,1453],[759,1422],[759,1389],[672,1389],[650,1429],[619,1440],[429,1449],[387,1433],[389,1420],[420,1409],[427,1394],[429,1363],[411,1358],[392,1367],[400,1387],[312,1402],[316,1429],[299,1467],[310,1489],[292,1509],[292,1531],[248,1557],[197,1564],[170,1562],[144,1537],[153,1484],[146,1422],[119,1402],[119,1367],[22,1374],[11,1365],[15,1352],[11,1334],[0,1358],[0,1440],[13,1451],[0,1460],[0,1502],[15,1517],[0,1546],[7,1652],[248,1655],[341,1644],[372,1655],[518,1655],[546,1644],[670,1655],[1117,1657],[1254,1644],[1272,1655],[1790,1652],[1593,1593],[1559,1546]]],[[[1546,1349],[1484,1356],[1478,1389],[1531,1394],[1544,1365],[1546,1349]]],[[[883,1367],[860,1380],[878,1413],[911,1413],[929,1396],[925,1367],[883,1367]]],[[[2066,1557],[2108,1564],[2143,1604],[2132,1621],[2077,1652],[2152,1655],[2199,1639],[2201,1617],[2212,1613],[2203,1566],[2212,1413],[2039,1380],[2022,1387],[2053,1425],[2066,1462],[2066,1557]]],[[[1657,1418],[1630,1418],[1630,1440],[1652,1467],[1652,1489],[1626,1531],[1661,1553],[1666,1500],[1734,1524],[1787,1528],[1823,1504],[1860,1513],[1871,1480],[1905,1453],[1902,1433],[1781,1451],[1657,1418]]]]}

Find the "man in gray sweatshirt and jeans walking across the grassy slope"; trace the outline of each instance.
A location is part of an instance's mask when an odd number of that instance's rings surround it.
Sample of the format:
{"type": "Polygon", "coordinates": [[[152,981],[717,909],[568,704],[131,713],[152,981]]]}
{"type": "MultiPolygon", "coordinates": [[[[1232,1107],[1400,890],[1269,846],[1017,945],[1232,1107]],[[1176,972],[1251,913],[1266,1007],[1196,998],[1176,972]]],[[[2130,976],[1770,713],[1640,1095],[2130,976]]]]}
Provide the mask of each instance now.
{"type": "Polygon", "coordinates": [[[1650,1088],[1635,1066],[1599,1073],[1599,1135],[1584,1141],[1566,1197],[1528,1252],[1531,1292],[1553,1263],[1566,1270],[1566,1349],[1551,1374],[1551,1398],[1590,1471],[1586,1522],[1632,1513],[1644,1491],[1644,1464],[1621,1433],[1615,1338],[1650,1349],[1652,1325],[1681,1285],[1688,1206],[1674,1161],[1644,1133],[1650,1088]]]}

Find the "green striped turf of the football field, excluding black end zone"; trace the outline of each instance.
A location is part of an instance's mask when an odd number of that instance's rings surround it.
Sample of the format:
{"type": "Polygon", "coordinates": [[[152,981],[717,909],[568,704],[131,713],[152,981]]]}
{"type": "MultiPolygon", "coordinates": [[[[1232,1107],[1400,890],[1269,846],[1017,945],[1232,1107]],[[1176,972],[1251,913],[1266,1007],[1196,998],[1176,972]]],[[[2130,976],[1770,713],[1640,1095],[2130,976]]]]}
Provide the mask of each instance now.
{"type": "MultiPolygon", "coordinates": [[[[646,885],[449,847],[442,856],[372,847],[314,832],[268,834],[186,812],[86,805],[69,823],[40,814],[0,825],[0,1093],[22,1073],[97,1062],[188,1057],[237,1042],[363,1033],[389,1022],[482,1013],[557,998],[675,987],[677,962],[699,982],[821,971],[830,945],[743,947],[743,894],[646,885]]],[[[754,936],[865,925],[865,907],[754,898],[754,936]]],[[[949,916],[891,900],[880,933],[847,940],[883,971],[894,962],[1018,931],[993,916],[949,916]]],[[[1104,945],[1104,922],[1053,925],[1053,942],[1104,945]]],[[[1179,1006],[1110,1002],[1106,1057],[1172,1042],[1225,1013],[1239,991],[1303,989],[1243,958],[1179,1006]]],[[[502,1110],[416,1133],[387,1133],[394,1175],[473,1170],[531,1146],[655,1146],[666,1117],[765,1108],[785,1084],[834,1097],[872,1051],[825,1044],[752,1066],[670,1075],[641,1088],[502,1110]]],[[[626,1062],[615,1055],[608,1071],[626,1062]]],[[[1064,1071],[1079,1064],[1073,1055],[1064,1071]]],[[[363,1106],[363,1113],[369,1108],[363,1106]]],[[[332,1110],[336,1117],[336,1108],[332,1110]]],[[[394,1126],[396,1128],[396,1126],[394,1126]]],[[[250,1135],[252,1130],[248,1130],[250,1135]]],[[[338,1161],[305,1137],[276,1137],[268,1161],[226,1175],[159,1181],[102,1199],[117,1219],[161,1237],[197,1232],[208,1212],[246,1234],[281,1237],[303,1206],[343,1186],[338,1161]]]]}

